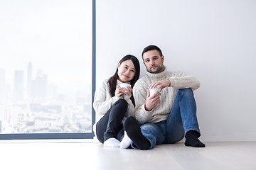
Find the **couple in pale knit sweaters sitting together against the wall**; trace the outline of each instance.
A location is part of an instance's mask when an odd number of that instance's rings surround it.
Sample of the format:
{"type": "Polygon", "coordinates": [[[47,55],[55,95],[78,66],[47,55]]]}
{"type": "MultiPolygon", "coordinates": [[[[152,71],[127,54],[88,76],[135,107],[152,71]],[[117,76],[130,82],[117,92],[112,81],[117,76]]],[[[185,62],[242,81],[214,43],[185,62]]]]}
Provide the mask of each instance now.
{"type": "Polygon", "coordinates": [[[186,146],[205,147],[198,140],[193,97],[199,82],[185,72],[167,71],[156,45],[144,48],[142,60],[147,72],[141,79],[137,57],[127,55],[117,64],[115,74],[95,91],[93,107],[102,115],[94,127],[97,139],[104,147],[145,150],[186,137],[186,146]],[[122,83],[131,87],[122,88],[122,83]],[[150,94],[154,88],[159,91],[150,94]]]}

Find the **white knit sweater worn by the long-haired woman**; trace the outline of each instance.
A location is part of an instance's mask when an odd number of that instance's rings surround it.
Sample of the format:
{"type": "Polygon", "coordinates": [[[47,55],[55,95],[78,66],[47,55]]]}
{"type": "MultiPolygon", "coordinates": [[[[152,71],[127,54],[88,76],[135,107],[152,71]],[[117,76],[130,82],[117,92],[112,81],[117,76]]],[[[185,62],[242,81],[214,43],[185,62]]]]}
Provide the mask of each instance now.
{"type": "MultiPolygon", "coordinates": [[[[117,80],[117,85],[122,84],[121,81],[117,80]]],[[[118,101],[120,98],[123,98],[128,103],[127,111],[124,115],[124,117],[127,117],[128,115],[134,116],[134,105],[132,104],[132,101],[130,100],[130,97],[123,95],[121,97],[114,96],[112,97],[110,95],[110,84],[107,82],[107,80],[103,81],[98,89],[95,91],[95,98],[93,102],[93,108],[96,112],[96,123],[100,120],[100,118],[107,113],[108,110],[114,105],[116,101],[118,101]]],[[[96,124],[95,123],[95,124],[96,124]]],[[[95,130],[95,125],[94,125],[95,130]]]]}

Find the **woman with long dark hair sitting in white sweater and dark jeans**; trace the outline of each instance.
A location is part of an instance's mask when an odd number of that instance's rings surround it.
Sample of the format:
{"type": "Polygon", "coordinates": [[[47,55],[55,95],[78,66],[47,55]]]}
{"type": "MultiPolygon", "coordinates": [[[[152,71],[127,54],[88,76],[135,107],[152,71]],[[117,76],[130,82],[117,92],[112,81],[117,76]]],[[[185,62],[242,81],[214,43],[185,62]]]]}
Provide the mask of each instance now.
{"type": "Polygon", "coordinates": [[[94,132],[105,147],[119,147],[119,141],[124,136],[122,122],[128,115],[134,116],[132,88],[139,79],[139,72],[137,57],[126,55],[118,62],[114,75],[103,81],[95,91],[93,108],[102,118],[95,123],[94,132]],[[121,88],[123,83],[131,87],[121,88]]]}

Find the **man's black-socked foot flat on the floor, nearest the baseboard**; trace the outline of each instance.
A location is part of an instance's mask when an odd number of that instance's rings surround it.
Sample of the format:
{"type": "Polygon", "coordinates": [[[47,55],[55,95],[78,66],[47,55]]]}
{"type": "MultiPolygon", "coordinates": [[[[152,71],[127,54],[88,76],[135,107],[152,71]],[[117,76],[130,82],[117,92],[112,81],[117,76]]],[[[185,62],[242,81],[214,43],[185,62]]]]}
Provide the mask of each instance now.
{"type": "Polygon", "coordinates": [[[206,147],[200,140],[198,140],[198,132],[196,130],[189,130],[186,132],[185,145],[187,147],[206,147]]]}

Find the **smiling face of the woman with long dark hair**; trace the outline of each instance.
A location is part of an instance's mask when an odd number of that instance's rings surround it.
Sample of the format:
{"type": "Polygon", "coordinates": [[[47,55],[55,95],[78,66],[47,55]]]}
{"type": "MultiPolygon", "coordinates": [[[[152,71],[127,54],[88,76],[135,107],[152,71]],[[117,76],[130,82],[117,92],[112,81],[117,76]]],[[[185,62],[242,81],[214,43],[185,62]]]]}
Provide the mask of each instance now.
{"type": "Polygon", "coordinates": [[[131,81],[135,76],[136,70],[132,60],[126,60],[122,64],[118,63],[117,69],[118,79],[122,83],[131,81]]]}

